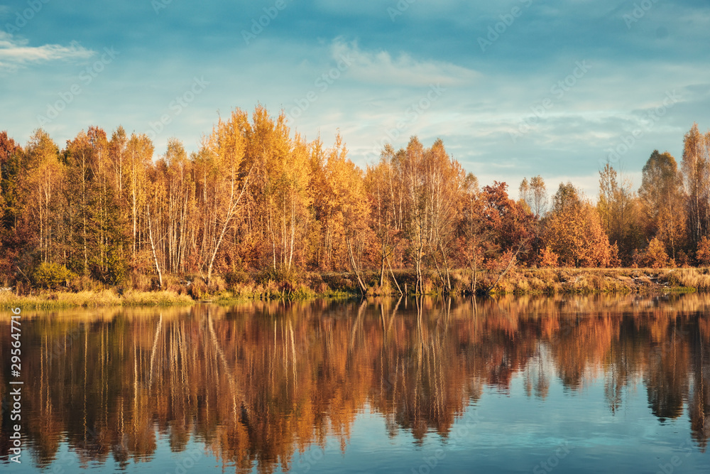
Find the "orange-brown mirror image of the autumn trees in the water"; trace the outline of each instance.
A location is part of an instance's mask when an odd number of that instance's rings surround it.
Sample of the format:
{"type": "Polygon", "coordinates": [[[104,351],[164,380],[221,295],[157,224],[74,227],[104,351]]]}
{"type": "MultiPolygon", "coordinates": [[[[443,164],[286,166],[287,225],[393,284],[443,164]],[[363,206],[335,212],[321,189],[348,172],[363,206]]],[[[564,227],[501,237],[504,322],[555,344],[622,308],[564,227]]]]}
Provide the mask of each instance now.
{"type": "MultiPolygon", "coordinates": [[[[39,466],[61,443],[84,466],[126,466],[165,436],[173,451],[197,441],[224,466],[271,472],[327,439],[345,450],[366,407],[417,443],[448,436],[485,387],[508,392],[519,376],[542,401],[555,378],[572,392],[601,379],[612,414],[643,384],[659,422],[685,410],[704,451],[709,304],[691,294],[26,312],[24,429],[39,466]]],[[[3,455],[9,426],[4,411],[3,455]]]]}

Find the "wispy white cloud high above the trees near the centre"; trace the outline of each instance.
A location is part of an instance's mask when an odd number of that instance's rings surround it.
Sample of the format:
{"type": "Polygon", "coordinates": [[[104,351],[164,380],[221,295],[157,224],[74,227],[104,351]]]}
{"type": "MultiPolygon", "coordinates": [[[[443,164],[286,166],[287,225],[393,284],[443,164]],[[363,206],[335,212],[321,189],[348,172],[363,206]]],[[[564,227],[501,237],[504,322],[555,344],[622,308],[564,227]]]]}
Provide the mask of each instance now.
{"type": "Polygon", "coordinates": [[[331,45],[332,58],[347,58],[354,64],[348,71],[350,77],[371,84],[427,86],[470,85],[480,77],[479,72],[452,63],[417,61],[408,54],[396,58],[385,50],[361,50],[356,41],[346,43],[339,38],[331,45]]]}

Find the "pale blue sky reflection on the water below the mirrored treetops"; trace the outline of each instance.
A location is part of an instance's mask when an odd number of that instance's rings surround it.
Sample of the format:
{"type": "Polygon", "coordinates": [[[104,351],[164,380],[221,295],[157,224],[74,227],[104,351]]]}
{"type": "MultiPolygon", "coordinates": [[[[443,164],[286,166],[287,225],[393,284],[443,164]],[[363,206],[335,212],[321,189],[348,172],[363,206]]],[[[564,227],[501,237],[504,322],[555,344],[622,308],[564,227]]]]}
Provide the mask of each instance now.
{"type": "MultiPolygon", "coordinates": [[[[447,438],[430,432],[422,443],[403,429],[388,436],[384,417],[366,407],[351,425],[345,451],[339,438],[329,437],[324,447],[311,446],[302,454],[296,453],[290,468],[295,473],[411,473],[436,458],[437,467],[432,472],[529,473],[552,458],[552,463],[559,463],[555,472],[560,473],[648,473],[679,456],[681,472],[707,472],[710,453],[699,452],[692,441],[687,441],[686,413],[661,424],[650,412],[639,378],[626,389],[621,408],[612,415],[604,399],[603,382],[603,377],[591,377],[583,388],[569,391],[552,377],[547,397],[540,399],[527,397],[523,376],[515,375],[508,394],[486,387],[481,398],[457,419],[447,438]]],[[[156,444],[153,456],[145,459],[148,463],[131,460],[126,472],[150,469],[172,473],[178,465],[191,466],[188,458],[195,452],[202,454],[187,473],[222,472],[222,461],[206,453],[194,438],[180,453],[170,451],[165,436],[158,436],[156,444]]],[[[70,470],[79,465],[74,454],[67,453],[65,443],[57,459],[50,471],[55,465],[70,470]]],[[[226,466],[225,472],[234,469],[233,463],[226,466]]],[[[117,464],[109,456],[105,462],[94,461],[88,467],[89,472],[113,473],[117,464]]],[[[37,472],[30,462],[13,470],[37,472]]]]}

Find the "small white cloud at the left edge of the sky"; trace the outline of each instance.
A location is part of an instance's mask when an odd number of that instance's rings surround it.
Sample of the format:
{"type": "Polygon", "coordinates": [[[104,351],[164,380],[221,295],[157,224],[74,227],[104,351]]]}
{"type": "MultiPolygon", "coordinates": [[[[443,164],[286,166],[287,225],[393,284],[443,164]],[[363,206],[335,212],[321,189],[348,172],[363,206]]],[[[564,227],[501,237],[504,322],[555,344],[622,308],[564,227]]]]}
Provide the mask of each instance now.
{"type": "Polygon", "coordinates": [[[76,42],[72,42],[69,46],[29,46],[27,40],[14,38],[11,34],[0,31],[0,70],[15,70],[21,66],[44,61],[87,59],[92,55],[94,51],[76,42]]]}

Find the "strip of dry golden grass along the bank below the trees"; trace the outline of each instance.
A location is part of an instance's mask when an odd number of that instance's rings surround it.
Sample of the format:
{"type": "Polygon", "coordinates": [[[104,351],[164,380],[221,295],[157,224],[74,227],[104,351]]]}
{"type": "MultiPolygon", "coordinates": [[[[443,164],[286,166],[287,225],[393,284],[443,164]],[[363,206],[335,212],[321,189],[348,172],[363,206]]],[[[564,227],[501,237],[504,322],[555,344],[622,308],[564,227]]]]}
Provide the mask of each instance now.
{"type": "MultiPolygon", "coordinates": [[[[414,296],[416,275],[413,271],[395,271],[395,281],[386,279],[379,285],[378,272],[361,275],[368,286],[368,296],[398,296],[400,291],[414,296]]],[[[453,293],[471,293],[471,274],[465,270],[451,272],[453,293]]],[[[476,290],[491,281],[490,274],[477,274],[476,290]]],[[[440,293],[435,274],[425,274],[426,294],[440,293]]],[[[666,293],[710,291],[710,269],[515,269],[498,281],[490,293],[559,294],[559,293],[666,293]]],[[[231,304],[253,300],[305,300],[312,298],[358,298],[361,291],[353,274],[307,273],[290,276],[285,281],[259,280],[258,276],[241,274],[217,276],[207,286],[204,281],[175,281],[168,290],[141,291],[116,287],[93,291],[36,291],[18,296],[0,292],[0,308],[72,308],[99,306],[180,306],[198,301],[231,304]]]]}

